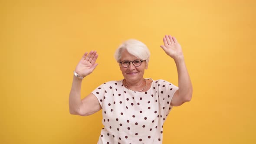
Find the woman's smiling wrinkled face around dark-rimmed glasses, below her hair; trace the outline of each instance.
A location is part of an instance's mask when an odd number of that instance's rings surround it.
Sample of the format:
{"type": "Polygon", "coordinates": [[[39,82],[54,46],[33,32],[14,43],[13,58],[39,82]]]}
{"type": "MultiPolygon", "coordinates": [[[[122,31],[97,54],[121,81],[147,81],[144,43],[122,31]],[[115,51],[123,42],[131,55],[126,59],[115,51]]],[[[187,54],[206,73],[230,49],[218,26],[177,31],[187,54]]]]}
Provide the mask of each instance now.
{"type": "MultiPolygon", "coordinates": [[[[120,61],[134,61],[136,59],[139,59],[133,55],[131,55],[126,49],[123,50],[123,52],[121,53],[121,59],[120,61]]],[[[141,59],[139,59],[141,60],[141,59]]],[[[147,62],[144,60],[140,66],[136,67],[132,64],[132,62],[130,63],[130,65],[127,68],[124,68],[121,64],[119,64],[121,72],[124,76],[124,78],[127,81],[130,82],[137,82],[141,79],[143,79],[143,75],[144,75],[144,70],[148,69],[148,64],[147,62]]]]}

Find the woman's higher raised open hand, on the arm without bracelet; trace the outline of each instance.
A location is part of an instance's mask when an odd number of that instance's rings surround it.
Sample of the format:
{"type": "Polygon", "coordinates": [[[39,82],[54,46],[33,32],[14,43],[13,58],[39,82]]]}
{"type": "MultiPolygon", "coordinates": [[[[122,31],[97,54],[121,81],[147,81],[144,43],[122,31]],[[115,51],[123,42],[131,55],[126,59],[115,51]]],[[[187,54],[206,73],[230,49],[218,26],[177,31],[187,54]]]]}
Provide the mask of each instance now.
{"type": "Polygon", "coordinates": [[[165,35],[163,41],[164,45],[161,45],[160,47],[168,56],[171,56],[171,58],[173,58],[174,60],[183,58],[181,45],[178,43],[175,37],[172,37],[171,35],[165,35]]]}

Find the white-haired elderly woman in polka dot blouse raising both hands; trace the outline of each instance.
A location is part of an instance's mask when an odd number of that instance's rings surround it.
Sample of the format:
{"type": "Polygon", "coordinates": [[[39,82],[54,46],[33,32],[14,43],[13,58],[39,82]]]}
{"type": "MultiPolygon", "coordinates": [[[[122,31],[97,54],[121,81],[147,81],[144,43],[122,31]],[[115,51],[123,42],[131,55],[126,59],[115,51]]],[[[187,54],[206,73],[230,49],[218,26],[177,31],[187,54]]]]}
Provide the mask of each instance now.
{"type": "Polygon", "coordinates": [[[69,95],[69,111],[87,116],[102,109],[103,120],[98,144],[162,144],[163,124],[173,106],[192,97],[192,85],[180,44],[164,36],[161,48],[174,59],[179,87],[162,79],[143,77],[148,69],[150,52],[138,40],[128,40],[115,52],[124,79],[98,86],[80,99],[82,79],[97,66],[96,51],[85,52],[74,71],[69,95]]]}

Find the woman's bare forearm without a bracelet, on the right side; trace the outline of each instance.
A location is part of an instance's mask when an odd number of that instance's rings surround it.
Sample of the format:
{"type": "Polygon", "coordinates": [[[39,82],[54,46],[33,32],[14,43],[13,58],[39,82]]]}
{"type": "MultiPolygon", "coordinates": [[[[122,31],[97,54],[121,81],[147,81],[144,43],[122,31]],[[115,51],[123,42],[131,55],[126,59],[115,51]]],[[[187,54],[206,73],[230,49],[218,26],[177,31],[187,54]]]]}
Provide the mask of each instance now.
{"type": "Polygon", "coordinates": [[[179,96],[184,99],[184,101],[190,101],[192,98],[193,88],[184,61],[184,56],[179,56],[177,59],[174,59],[174,61],[178,72],[179,96]]]}

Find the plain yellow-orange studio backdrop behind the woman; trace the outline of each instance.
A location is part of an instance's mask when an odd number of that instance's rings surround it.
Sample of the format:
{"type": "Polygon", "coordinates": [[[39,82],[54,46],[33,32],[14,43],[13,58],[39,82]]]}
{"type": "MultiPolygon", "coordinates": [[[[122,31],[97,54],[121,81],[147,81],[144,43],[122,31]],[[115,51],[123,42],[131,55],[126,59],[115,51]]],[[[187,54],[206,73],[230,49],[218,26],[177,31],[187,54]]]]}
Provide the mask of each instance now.
{"type": "Polygon", "coordinates": [[[102,111],[69,114],[84,52],[99,56],[82,98],[123,78],[114,52],[131,38],[151,51],[144,77],[178,85],[174,60],[160,47],[171,34],[194,92],[168,115],[163,144],[255,144],[255,15],[255,0],[1,1],[0,143],[96,144],[102,111]]]}

